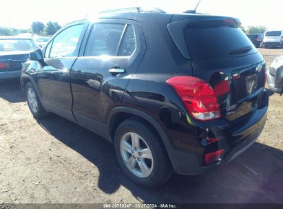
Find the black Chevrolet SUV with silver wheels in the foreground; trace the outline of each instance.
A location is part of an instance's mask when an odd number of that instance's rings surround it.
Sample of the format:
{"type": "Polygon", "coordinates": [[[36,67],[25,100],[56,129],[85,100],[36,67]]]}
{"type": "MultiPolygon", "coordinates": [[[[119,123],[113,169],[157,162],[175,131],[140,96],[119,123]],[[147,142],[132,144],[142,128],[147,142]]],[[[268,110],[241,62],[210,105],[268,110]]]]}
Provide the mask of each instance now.
{"type": "Polygon", "coordinates": [[[34,118],[47,113],[114,143],[126,175],[160,186],[229,162],[266,121],[266,65],[231,17],[131,8],[57,32],[23,66],[34,118]]]}

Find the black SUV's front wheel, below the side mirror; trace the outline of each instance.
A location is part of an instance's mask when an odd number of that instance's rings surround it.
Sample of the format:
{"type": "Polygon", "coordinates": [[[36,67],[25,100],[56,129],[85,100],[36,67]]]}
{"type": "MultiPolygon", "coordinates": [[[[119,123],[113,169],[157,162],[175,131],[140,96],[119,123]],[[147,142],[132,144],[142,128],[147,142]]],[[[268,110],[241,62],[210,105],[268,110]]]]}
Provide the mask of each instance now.
{"type": "Polygon", "coordinates": [[[25,85],[25,98],[28,103],[28,108],[34,118],[44,118],[48,113],[43,108],[39,96],[34,88],[34,85],[29,81],[25,85]]]}

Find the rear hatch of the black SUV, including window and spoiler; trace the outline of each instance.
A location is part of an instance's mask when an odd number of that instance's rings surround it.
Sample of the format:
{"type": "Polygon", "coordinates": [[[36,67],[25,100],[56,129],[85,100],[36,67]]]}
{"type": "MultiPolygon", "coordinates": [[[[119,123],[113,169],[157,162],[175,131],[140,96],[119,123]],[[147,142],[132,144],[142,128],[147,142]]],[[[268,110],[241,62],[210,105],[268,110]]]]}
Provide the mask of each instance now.
{"type": "Polygon", "coordinates": [[[239,28],[237,19],[199,16],[172,18],[169,33],[193,67],[193,77],[209,83],[222,118],[231,125],[258,109],[265,85],[264,59],[239,28]]]}

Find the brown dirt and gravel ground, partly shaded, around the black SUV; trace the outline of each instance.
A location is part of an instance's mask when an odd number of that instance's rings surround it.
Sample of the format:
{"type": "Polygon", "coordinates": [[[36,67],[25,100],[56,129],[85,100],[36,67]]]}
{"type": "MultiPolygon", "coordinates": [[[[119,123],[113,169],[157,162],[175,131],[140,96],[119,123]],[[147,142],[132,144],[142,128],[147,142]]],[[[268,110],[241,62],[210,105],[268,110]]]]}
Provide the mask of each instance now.
{"type": "MultiPolygon", "coordinates": [[[[283,50],[260,50],[268,65],[283,50]]],[[[123,175],[112,144],[56,115],[34,120],[19,80],[0,83],[0,203],[283,203],[283,97],[258,142],[200,176],[158,189],[123,175]]]]}

